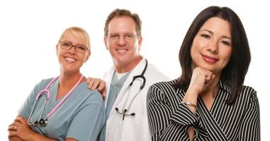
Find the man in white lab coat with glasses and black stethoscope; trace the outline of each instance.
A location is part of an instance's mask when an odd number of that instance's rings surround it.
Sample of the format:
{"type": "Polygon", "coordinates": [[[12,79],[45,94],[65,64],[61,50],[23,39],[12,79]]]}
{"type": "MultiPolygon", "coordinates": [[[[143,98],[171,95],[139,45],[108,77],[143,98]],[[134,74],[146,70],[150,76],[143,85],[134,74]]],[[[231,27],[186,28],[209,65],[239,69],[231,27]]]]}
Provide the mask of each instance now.
{"type": "MultiPolygon", "coordinates": [[[[151,140],[147,120],[147,90],[155,82],[169,78],[140,55],[141,26],[139,16],[125,9],[112,11],[106,20],[104,43],[110,51],[113,67],[103,78],[107,90],[107,123],[101,140],[103,137],[108,141],[151,140]]],[[[96,87],[93,86],[94,80],[89,78],[89,87],[96,87]]]]}

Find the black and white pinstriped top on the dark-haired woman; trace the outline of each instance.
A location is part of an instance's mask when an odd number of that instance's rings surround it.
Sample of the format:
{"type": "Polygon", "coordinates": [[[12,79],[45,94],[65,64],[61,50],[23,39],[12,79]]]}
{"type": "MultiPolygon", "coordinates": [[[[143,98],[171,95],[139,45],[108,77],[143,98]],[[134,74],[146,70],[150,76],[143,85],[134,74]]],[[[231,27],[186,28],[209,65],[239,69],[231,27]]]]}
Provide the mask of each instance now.
{"type": "Polygon", "coordinates": [[[189,140],[189,126],[195,131],[194,140],[260,140],[259,102],[252,87],[242,86],[235,104],[228,105],[230,87],[220,80],[218,94],[210,111],[198,97],[193,114],[181,104],[186,93],[175,90],[169,82],[158,82],[147,93],[147,114],[152,140],[189,140]]]}

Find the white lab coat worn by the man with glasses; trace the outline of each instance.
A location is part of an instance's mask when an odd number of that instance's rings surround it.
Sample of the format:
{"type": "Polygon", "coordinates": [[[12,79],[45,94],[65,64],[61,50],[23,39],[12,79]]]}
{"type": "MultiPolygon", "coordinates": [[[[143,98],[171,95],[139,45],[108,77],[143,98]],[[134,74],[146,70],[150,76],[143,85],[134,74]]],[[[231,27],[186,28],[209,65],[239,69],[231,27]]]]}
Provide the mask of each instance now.
{"type": "MultiPolygon", "coordinates": [[[[145,59],[142,59],[140,63],[133,69],[133,71],[128,76],[127,80],[123,84],[116,101],[111,108],[111,113],[108,116],[108,120],[106,123],[106,140],[107,141],[147,141],[151,140],[150,129],[147,120],[147,90],[150,85],[155,82],[167,81],[169,78],[162,74],[157,70],[152,64],[148,63],[147,69],[145,71],[145,87],[142,89],[140,94],[135,94],[138,92],[139,87],[141,85],[141,80],[136,79],[133,82],[132,87],[130,87],[130,94],[127,90],[128,85],[133,80],[133,76],[140,75],[145,68],[145,59]],[[126,90],[126,91],[125,91],[126,90]],[[130,95],[128,97],[128,95],[130,95]],[[134,101],[131,103],[133,97],[135,97],[134,101]],[[125,104],[126,103],[126,104],[125,104]],[[128,110],[128,114],[135,113],[135,116],[125,116],[125,120],[123,121],[123,115],[120,115],[116,111],[116,107],[118,107],[119,111],[123,111],[124,105],[127,108],[131,103],[130,109],[128,110]]],[[[104,80],[106,81],[107,94],[109,92],[109,88],[111,85],[111,79],[113,77],[113,73],[115,68],[112,67],[108,72],[104,75],[104,80]]],[[[105,99],[105,104],[107,103],[107,99],[105,99]]]]}

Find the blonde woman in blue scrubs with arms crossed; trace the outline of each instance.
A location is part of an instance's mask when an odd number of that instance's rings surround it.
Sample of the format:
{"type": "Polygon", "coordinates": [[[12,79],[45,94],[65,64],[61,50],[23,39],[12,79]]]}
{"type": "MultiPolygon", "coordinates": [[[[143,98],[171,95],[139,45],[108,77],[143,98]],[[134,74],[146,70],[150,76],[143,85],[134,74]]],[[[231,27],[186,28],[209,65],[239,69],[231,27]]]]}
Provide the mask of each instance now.
{"type": "Polygon", "coordinates": [[[35,85],[9,125],[9,140],[97,140],[105,122],[103,99],[80,73],[90,56],[89,35],[69,27],[56,51],[60,76],[35,85]]]}

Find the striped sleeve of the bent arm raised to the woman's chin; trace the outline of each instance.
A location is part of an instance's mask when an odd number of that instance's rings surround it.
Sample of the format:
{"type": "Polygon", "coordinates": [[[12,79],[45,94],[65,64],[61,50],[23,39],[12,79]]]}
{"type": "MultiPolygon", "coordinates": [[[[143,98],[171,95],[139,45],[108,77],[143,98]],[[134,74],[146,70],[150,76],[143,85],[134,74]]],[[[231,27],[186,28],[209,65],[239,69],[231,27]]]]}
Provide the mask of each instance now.
{"type": "MultiPolygon", "coordinates": [[[[164,93],[157,86],[152,85],[147,93],[147,114],[152,140],[189,140],[189,135],[187,133],[183,135],[182,132],[186,130],[186,127],[171,122],[172,111],[164,93]]],[[[176,118],[179,118],[179,114],[177,114],[176,118]]],[[[190,119],[181,123],[189,124],[192,121],[196,120],[190,119]]]]}

